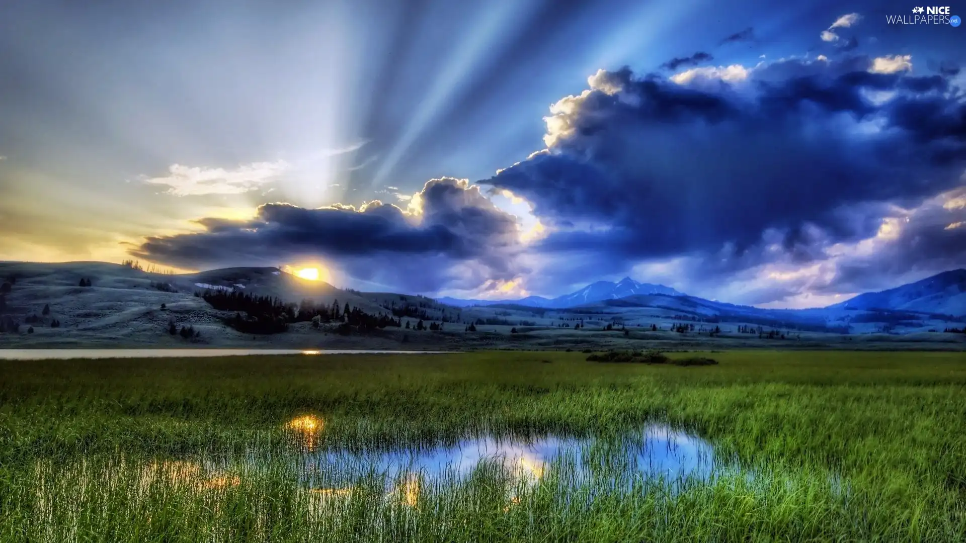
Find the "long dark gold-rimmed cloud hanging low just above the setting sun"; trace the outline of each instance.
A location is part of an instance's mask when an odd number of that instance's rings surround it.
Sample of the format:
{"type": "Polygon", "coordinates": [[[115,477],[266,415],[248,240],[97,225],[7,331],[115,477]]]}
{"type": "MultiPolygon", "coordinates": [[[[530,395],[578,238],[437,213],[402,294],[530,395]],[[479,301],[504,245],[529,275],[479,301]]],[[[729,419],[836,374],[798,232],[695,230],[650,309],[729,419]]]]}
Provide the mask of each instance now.
{"type": "Polygon", "coordinates": [[[202,218],[196,222],[203,232],[151,237],[130,254],[188,269],[315,256],[338,262],[355,278],[391,279],[420,292],[472,274],[454,273],[458,263],[471,264],[487,278],[509,279],[520,272],[514,262],[516,217],[498,210],[476,186],[437,179],[414,198],[421,201],[418,216],[378,201],[358,210],[339,204],[321,209],[265,204],[251,220],[202,218]]]}

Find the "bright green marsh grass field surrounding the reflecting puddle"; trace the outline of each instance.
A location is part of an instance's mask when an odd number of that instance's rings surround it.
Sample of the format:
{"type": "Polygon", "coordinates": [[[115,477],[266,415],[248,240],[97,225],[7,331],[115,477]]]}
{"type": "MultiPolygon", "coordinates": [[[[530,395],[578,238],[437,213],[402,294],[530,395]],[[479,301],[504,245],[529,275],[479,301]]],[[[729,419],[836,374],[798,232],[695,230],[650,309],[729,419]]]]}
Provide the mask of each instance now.
{"type": "Polygon", "coordinates": [[[721,363],[0,362],[0,541],[966,541],[961,353],[707,356],[721,363]],[[287,429],[299,415],[318,424],[287,429]],[[400,481],[395,498],[372,473],[327,494],[298,477],[305,446],[603,442],[649,421],[708,440],[735,471],[678,492],[651,480],[609,492],[561,462],[511,501],[513,483],[486,465],[466,480],[400,481]]]}

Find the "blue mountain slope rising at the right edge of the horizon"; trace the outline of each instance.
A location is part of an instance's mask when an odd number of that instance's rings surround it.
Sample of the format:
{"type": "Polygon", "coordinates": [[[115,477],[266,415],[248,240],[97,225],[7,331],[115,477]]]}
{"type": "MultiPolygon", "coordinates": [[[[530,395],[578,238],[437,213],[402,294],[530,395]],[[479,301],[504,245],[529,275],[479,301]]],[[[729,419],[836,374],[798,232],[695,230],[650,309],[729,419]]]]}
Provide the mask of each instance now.
{"type": "Polygon", "coordinates": [[[895,289],[861,294],[829,307],[966,315],[966,270],[938,273],[895,289]]]}

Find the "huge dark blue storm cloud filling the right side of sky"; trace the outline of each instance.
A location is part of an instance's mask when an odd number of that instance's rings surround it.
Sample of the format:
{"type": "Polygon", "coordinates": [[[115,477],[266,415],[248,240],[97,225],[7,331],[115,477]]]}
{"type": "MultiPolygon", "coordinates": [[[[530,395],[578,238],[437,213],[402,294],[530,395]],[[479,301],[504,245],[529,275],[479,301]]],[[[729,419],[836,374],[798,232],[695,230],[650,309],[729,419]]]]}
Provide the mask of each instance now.
{"type": "Polygon", "coordinates": [[[873,236],[876,202],[921,202],[961,183],[966,105],[935,92],[948,80],[856,70],[870,65],[785,61],[734,84],[704,69],[682,84],[602,71],[548,121],[548,151],[483,183],[563,227],[543,250],[595,250],[619,267],[724,246],[717,272],[733,272],[775,257],[755,253],[771,232],[769,245],[805,264],[820,246],[873,236]],[[582,223],[596,227],[567,227],[582,223]]]}

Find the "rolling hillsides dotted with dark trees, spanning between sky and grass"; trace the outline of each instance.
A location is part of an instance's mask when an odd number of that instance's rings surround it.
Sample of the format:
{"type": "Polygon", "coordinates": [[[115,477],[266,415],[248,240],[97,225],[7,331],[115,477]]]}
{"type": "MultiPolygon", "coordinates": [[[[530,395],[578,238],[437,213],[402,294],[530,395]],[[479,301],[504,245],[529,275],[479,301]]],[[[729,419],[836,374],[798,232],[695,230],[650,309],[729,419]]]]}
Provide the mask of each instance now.
{"type": "MultiPolygon", "coordinates": [[[[922,296],[903,299],[903,302],[937,300],[941,296],[954,300],[961,295],[957,290],[960,283],[949,276],[941,279],[924,283],[932,290],[923,287],[922,296]]],[[[876,341],[905,337],[909,342],[924,340],[942,344],[961,343],[966,337],[942,333],[943,329],[963,329],[966,319],[910,309],[880,309],[874,299],[868,302],[869,307],[875,307],[872,309],[849,306],[778,310],[703,300],[672,291],[677,294],[632,294],[570,307],[538,307],[505,301],[454,307],[422,296],[342,290],[275,268],[231,268],[172,275],[99,262],[0,263],[0,280],[11,283],[5,286],[10,292],[0,297],[0,321],[13,319],[19,324],[13,332],[0,329],[0,348],[576,348],[616,346],[625,341],[621,339],[624,337],[629,338],[626,341],[658,341],[676,348],[696,347],[709,341],[717,345],[721,337],[731,346],[757,347],[761,345],[756,343],[760,336],[758,327],[766,332],[781,330],[782,337],[794,336],[796,340],[810,338],[808,341],[813,347],[841,341],[843,333],[869,334],[869,337],[875,334],[879,337],[876,341]],[[85,283],[90,280],[90,286],[81,286],[82,280],[85,283]],[[287,303],[308,299],[315,306],[334,305],[338,301],[340,307],[348,304],[370,315],[391,316],[400,323],[406,321],[411,329],[386,327],[353,332],[351,337],[346,337],[331,333],[341,321],[313,328],[307,320],[295,319],[288,321],[288,331],[251,335],[250,331],[241,333],[234,326],[228,326],[226,319],[235,317],[234,309],[216,310],[209,301],[195,296],[203,291],[267,296],[287,303]],[[44,312],[44,307],[48,312],[44,312]],[[416,330],[419,320],[426,321],[427,327],[430,323],[441,323],[443,329],[416,330]],[[199,331],[200,339],[185,343],[184,338],[172,336],[169,333],[172,321],[178,327],[199,331]],[[60,326],[54,326],[55,322],[60,326]],[[474,329],[470,329],[470,324],[474,329]],[[690,333],[671,331],[681,324],[687,325],[690,333]],[[617,331],[608,330],[609,325],[617,331]],[[33,332],[29,331],[31,328],[33,332]],[[709,336],[709,330],[716,328],[721,329],[722,335],[709,336]]],[[[620,291],[614,290],[618,285],[611,283],[607,289],[603,288],[607,285],[589,289],[587,299],[619,294],[620,291]]],[[[639,285],[644,284],[625,282],[624,286],[632,290],[647,288],[639,285]]]]}

